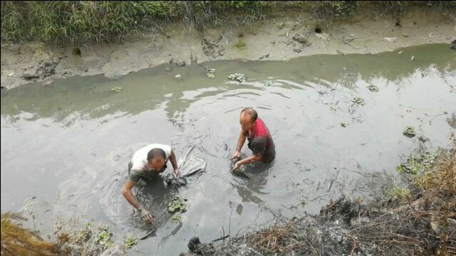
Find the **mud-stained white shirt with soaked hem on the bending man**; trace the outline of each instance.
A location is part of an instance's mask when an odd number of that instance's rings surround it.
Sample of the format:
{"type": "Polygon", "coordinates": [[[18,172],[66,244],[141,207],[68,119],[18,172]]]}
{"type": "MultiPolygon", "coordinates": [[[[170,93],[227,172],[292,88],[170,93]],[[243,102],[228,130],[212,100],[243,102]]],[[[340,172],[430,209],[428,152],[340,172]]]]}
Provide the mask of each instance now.
{"type": "Polygon", "coordinates": [[[140,178],[150,180],[157,176],[158,173],[165,171],[166,163],[171,154],[171,147],[163,144],[149,144],[133,154],[128,168],[128,180],[132,182],[140,181],[140,178]],[[165,166],[159,171],[149,168],[147,154],[152,149],[162,149],[165,151],[165,166]]]}

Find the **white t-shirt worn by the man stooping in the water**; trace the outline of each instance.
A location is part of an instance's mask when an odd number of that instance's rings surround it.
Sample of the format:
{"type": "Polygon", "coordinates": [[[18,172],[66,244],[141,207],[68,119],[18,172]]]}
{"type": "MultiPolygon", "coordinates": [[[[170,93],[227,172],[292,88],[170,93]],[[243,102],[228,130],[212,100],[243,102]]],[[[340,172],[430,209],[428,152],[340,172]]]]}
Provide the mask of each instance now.
{"type": "MultiPolygon", "coordinates": [[[[165,163],[170,158],[171,154],[171,146],[164,145],[164,144],[149,144],[142,149],[138,149],[138,151],[133,154],[131,158],[131,169],[130,169],[130,176],[142,176],[144,178],[148,178],[150,174],[147,174],[148,171],[152,170],[149,168],[149,162],[147,161],[147,154],[152,149],[162,149],[165,151],[165,163]]],[[[130,177],[132,179],[133,177],[130,177]]],[[[132,181],[135,181],[137,177],[133,178],[132,181]]],[[[137,181],[135,181],[137,182],[137,181]]]]}

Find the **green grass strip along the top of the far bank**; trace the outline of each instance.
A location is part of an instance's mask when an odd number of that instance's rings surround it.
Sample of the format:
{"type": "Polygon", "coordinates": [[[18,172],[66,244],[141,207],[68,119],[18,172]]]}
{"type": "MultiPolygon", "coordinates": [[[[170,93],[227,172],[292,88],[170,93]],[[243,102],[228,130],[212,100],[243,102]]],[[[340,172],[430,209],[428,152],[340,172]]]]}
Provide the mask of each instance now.
{"type": "Polygon", "coordinates": [[[1,40],[110,41],[160,31],[171,21],[204,30],[280,10],[309,11],[323,21],[352,16],[363,5],[400,16],[410,6],[442,11],[456,1],[1,1],[1,40]]]}

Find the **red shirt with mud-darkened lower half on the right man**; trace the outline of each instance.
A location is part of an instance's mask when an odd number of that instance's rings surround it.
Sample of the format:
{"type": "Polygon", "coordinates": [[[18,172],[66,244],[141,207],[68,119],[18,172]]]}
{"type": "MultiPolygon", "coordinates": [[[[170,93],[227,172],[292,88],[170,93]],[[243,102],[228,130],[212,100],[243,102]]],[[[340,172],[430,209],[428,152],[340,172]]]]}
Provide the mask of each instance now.
{"type": "Polygon", "coordinates": [[[269,163],[274,160],[274,157],[276,157],[276,146],[274,146],[271,134],[263,120],[257,119],[257,124],[255,124],[252,131],[249,131],[247,139],[249,139],[249,149],[254,154],[263,154],[260,161],[269,163]]]}

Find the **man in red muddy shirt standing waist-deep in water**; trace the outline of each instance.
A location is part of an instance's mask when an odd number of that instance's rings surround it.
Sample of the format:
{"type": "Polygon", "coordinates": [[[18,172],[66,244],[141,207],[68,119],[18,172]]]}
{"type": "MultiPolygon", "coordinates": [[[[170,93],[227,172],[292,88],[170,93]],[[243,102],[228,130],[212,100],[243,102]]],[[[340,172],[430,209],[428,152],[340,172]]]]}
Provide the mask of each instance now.
{"type": "Polygon", "coordinates": [[[274,160],[274,157],[276,157],[274,142],[263,120],[258,118],[257,111],[251,107],[244,108],[241,111],[239,122],[241,123],[241,134],[239,134],[239,140],[237,141],[236,152],[234,152],[231,159],[240,159],[241,149],[246,138],[249,139],[248,146],[254,155],[237,161],[232,171],[239,169],[242,164],[252,164],[255,161],[270,163],[274,160]]]}

